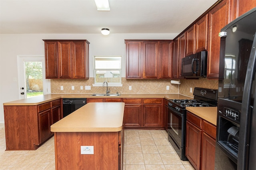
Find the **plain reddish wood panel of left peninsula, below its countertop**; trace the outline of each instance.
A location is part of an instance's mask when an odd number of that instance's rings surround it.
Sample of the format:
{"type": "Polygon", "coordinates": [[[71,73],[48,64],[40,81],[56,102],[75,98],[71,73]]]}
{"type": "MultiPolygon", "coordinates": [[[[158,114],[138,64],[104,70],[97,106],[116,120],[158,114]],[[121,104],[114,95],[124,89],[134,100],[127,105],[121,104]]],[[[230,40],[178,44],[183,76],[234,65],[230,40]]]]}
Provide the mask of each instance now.
{"type": "Polygon", "coordinates": [[[35,150],[38,145],[36,106],[4,106],[6,150],[35,150]]]}

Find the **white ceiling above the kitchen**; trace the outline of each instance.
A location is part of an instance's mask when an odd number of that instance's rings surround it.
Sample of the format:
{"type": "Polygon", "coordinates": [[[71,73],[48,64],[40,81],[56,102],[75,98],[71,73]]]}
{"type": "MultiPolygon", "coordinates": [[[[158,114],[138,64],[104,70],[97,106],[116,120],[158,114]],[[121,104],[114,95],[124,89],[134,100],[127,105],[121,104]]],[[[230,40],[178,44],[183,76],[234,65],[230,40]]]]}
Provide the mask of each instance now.
{"type": "Polygon", "coordinates": [[[0,33],[180,33],[217,0],[0,0],[0,33]]]}

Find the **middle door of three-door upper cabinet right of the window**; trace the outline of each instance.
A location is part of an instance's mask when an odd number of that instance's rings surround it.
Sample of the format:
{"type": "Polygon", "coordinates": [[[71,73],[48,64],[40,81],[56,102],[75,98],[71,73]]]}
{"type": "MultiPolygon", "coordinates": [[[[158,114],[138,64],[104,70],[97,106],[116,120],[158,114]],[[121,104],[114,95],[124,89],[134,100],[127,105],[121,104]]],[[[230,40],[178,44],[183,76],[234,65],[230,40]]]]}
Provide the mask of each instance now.
{"type": "Polygon", "coordinates": [[[158,77],[158,42],[143,42],[143,78],[158,77]]]}

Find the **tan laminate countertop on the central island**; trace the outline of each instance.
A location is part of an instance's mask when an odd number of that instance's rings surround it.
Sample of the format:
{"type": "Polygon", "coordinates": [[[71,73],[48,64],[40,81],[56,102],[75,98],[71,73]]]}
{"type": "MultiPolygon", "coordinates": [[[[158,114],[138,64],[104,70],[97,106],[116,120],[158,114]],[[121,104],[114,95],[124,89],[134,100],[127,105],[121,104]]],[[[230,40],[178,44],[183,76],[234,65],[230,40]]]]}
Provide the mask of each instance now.
{"type": "Polygon", "coordinates": [[[122,130],[123,102],[88,103],[51,125],[52,132],[118,132],[122,130]]]}

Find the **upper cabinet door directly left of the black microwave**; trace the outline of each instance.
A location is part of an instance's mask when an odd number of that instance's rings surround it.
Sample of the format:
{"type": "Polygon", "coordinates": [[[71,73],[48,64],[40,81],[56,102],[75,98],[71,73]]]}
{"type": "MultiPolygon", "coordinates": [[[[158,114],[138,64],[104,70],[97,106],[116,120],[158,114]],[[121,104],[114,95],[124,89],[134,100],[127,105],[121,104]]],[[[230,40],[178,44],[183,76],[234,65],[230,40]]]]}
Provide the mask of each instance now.
{"type": "Polygon", "coordinates": [[[179,41],[178,78],[184,78],[181,75],[181,61],[186,57],[186,32],[180,35],[179,41]]]}

